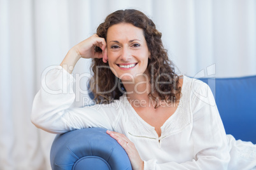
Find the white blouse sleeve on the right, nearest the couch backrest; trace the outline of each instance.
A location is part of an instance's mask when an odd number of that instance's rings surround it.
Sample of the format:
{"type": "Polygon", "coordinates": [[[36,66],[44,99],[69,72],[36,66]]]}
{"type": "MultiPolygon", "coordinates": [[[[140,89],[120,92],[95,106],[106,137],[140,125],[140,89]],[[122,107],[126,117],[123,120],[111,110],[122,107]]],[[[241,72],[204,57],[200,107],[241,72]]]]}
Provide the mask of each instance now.
{"type": "Polygon", "coordinates": [[[148,160],[144,161],[144,169],[227,169],[230,160],[229,148],[211,89],[207,84],[201,83],[196,91],[192,91],[191,99],[194,159],[164,164],[158,164],[157,160],[148,160]]]}

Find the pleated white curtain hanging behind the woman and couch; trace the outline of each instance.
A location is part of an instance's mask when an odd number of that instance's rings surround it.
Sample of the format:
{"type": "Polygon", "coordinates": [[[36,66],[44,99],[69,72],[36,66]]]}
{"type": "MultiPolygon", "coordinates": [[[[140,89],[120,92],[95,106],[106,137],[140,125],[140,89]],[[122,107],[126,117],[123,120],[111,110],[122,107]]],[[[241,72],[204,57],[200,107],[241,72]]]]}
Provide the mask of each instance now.
{"type": "Polygon", "coordinates": [[[255,0],[0,0],[0,169],[50,169],[55,135],[30,121],[41,73],[125,8],[152,18],[181,74],[256,75],[255,0]]]}

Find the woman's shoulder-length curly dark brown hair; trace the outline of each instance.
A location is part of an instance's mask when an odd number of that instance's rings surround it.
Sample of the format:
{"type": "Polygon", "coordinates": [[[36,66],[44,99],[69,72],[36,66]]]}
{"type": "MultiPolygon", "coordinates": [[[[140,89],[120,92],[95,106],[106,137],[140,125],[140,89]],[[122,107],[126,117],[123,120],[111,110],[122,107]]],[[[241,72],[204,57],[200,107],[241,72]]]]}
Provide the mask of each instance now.
{"type": "MultiPolygon", "coordinates": [[[[99,25],[97,35],[106,41],[108,28],[118,23],[131,23],[135,27],[143,29],[151,54],[151,58],[148,58],[147,70],[152,90],[148,96],[155,101],[159,97],[160,100],[165,100],[167,103],[179,100],[181,96],[179,77],[175,74],[174,65],[162,45],[162,34],[155,29],[155,23],[141,11],[118,10],[108,15],[105,21],[99,25]]],[[[96,51],[101,51],[101,49],[96,48],[96,51]]],[[[101,58],[92,59],[92,71],[94,76],[90,81],[90,87],[97,103],[110,103],[125,93],[122,81],[113,74],[108,63],[104,63],[101,58]]]]}

